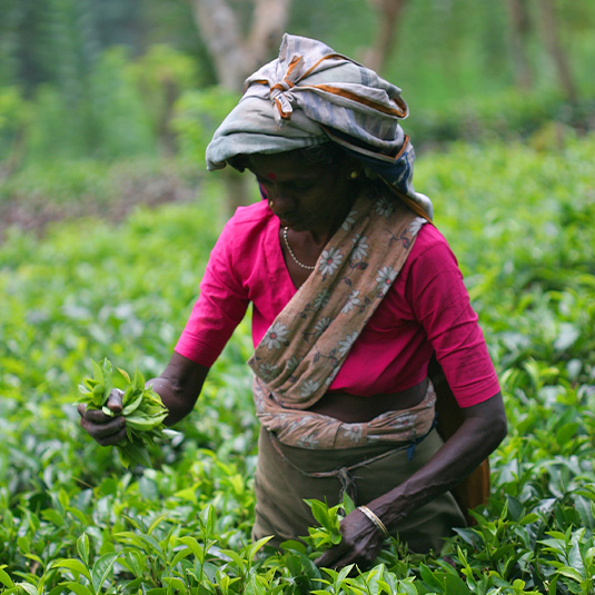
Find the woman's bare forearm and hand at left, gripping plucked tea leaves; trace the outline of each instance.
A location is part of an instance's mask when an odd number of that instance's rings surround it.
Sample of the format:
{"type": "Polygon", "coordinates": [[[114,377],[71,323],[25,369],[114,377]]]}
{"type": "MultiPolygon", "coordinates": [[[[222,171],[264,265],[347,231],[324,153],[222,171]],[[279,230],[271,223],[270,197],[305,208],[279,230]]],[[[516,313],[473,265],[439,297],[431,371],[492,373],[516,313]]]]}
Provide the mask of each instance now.
{"type": "MultiPolygon", "coordinates": [[[[163,373],[147,383],[159,394],[169,409],[166,424],[171,426],[186,417],[194,408],[209,368],[187,357],[173,353],[163,373]]],[[[112,390],[107,406],[115,413],[122,410],[120,390],[112,390]]],[[[81,427],[101,446],[110,446],[126,439],[126,420],[122,416],[109,417],[101,410],[87,410],[85,404],[78,406],[81,427]]]]}

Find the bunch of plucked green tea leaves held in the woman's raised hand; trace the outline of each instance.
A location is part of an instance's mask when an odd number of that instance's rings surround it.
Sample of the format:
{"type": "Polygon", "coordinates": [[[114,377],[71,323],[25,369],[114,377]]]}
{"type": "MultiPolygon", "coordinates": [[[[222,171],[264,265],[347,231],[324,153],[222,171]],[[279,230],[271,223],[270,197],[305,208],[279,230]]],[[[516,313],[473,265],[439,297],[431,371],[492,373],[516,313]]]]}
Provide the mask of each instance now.
{"type": "Polygon", "coordinates": [[[122,411],[115,413],[107,406],[113,389],[111,363],[108,359],[103,359],[101,365],[92,361],[92,367],[93,377],[85,378],[79,385],[81,400],[87,404],[88,409],[101,409],[109,417],[122,415],[126,418],[128,440],[117,446],[121,464],[126,468],[130,465],[150,467],[147,446],[153,445],[156,438],[170,433],[163,425],[168,410],[161,397],[145,386],[145,378],[138,369],[130,378],[126,370],[118,368],[127,386],[122,391],[122,411]]]}

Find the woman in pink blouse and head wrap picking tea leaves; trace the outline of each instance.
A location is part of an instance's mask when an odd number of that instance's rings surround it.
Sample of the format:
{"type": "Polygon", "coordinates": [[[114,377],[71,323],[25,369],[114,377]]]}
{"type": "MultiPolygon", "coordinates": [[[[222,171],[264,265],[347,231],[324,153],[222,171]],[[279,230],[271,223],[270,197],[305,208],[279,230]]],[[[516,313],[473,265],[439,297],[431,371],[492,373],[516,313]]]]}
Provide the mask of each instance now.
{"type": "MultiPolygon", "coordinates": [[[[209,169],[248,169],[266,200],[226,225],[163,374],[175,424],[252,304],[261,422],[254,537],[307,535],[305,498],[358,508],[318,561],[369,563],[386,535],[438,551],[465,524],[450,489],[502,442],[506,417],[477,316],[432,204],[411,185],[400,90],[318,41],[286,34],[246,81],[207,149],[209,169]],[[443,443],[427,378],[435,355],[458,405],[443,443]]],[[[109,406],[121,409],[118,395],[109,406]]],[[[125,420],[81,413],[100,444],[125,420]]]]}

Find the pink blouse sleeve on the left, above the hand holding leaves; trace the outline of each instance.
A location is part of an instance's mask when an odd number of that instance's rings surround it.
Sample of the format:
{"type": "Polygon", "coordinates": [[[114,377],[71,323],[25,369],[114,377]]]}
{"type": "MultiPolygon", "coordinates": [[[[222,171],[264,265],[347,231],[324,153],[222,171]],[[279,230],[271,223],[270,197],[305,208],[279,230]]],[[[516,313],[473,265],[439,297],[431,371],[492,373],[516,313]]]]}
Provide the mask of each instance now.
{"type": "Polygon", "coordinates": [[[176,345],[176,353],[210,367],[248,307],[248,295],[234,270],[234,220],[212,249],[200,282],[200,296],[176,345]]]}

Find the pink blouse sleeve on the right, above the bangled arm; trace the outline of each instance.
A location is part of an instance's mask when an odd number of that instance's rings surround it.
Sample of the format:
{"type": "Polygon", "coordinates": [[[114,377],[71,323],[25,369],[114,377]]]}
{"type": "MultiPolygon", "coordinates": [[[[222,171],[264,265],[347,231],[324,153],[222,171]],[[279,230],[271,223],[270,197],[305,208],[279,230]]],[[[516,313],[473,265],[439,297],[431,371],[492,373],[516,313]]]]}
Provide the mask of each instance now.
{"type": "Polygon", "coordinates": [[[455,255],[433,231],[439,240],[429,244],[411,264],[407,298],[457,401],[470,407],[500,388],[455,255]]]}

